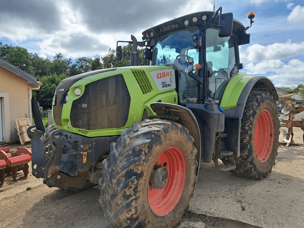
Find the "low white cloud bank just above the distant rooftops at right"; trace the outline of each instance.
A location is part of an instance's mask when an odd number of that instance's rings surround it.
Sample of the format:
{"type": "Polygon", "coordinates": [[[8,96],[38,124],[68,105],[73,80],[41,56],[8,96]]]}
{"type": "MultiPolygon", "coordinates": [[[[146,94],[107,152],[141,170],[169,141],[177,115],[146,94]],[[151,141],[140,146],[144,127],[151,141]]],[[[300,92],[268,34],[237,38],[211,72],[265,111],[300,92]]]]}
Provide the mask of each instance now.
{"type": "Polygon", "coordinates": [[[284,63],[281,60],[264,60],[260,63],[249,63],[245,71],[251,75],[270,74],[268,78],[277,87],[296,87],[304,84],[304,62],[298,59],[284,63]]]}

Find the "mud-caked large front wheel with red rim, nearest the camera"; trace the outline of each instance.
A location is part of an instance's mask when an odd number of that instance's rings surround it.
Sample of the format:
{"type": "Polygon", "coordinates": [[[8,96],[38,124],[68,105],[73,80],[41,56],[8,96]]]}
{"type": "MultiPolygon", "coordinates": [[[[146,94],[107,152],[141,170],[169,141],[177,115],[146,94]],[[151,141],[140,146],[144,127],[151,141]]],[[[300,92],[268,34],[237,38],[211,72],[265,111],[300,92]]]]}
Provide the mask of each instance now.
{"type": "Polygon", "coordinates": [[[196,182],[196,148],[178,123],[145,119],[123,130],[102,163],[99,202],[118,227],[174,227],[185,211],[196,182]],[[162,165],[168,179],[162,188],[150,182],[162,165]],[[154,169],[155,170],[155,169],[154,169]]]}

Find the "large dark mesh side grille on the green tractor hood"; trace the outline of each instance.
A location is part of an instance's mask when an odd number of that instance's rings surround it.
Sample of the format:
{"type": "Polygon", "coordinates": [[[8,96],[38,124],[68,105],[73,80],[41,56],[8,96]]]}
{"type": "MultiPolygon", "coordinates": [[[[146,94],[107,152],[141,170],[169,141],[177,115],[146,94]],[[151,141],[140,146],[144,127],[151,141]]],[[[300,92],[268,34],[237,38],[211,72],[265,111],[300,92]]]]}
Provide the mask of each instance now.
{"type": "Polygon", "coordinates": [[[86,130],[123,127],[128,120],[130,99],[122,74],[91,82],[72,103],[71,126],[86,130]]]}

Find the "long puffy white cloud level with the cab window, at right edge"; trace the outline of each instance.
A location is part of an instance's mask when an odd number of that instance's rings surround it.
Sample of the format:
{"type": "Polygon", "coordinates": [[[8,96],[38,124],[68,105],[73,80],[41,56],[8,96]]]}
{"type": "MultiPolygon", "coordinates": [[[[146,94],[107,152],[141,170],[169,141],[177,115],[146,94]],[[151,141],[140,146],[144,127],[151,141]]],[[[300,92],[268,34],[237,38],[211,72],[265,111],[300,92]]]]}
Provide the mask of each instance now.
{"type": "Polygon", "coordinates": [[[272,59],[284,59],[304,51],[304,41],[302,43],[292,43],[287,40],[285,43],[273,43],[267,46],[253,44],[244,52],[240,53],[240,60],[244,62],[257,62],[272,59]]]}

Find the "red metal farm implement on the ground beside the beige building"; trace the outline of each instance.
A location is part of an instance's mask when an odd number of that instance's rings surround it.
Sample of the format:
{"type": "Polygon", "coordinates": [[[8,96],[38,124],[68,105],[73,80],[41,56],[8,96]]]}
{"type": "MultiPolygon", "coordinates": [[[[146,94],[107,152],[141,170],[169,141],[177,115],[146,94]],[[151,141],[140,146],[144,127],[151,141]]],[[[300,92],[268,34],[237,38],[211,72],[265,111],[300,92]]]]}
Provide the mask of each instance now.
{"type": "Polygon", "coordinates": [[[9,147],[0,147],[0,183],[4,182],[4,175],[12,174],[15,181],[17,172],[23,170],[24,176],[29,174],[29,165],[32,153],[29,149],[21,147],[16,152],[9,152],[9,147]]]}

